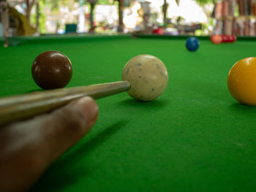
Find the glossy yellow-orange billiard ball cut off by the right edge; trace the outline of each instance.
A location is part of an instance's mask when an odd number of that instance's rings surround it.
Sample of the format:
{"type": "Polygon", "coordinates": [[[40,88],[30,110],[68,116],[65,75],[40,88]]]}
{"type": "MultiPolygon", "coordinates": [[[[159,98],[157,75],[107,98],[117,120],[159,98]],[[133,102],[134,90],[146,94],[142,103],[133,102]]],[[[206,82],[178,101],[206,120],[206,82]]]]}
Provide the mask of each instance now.
{"type": "Polygon", "coordinates": [[[256,105],[256,57],[241,59],[232,66],[227,87],[241,104],[256,105]]]}

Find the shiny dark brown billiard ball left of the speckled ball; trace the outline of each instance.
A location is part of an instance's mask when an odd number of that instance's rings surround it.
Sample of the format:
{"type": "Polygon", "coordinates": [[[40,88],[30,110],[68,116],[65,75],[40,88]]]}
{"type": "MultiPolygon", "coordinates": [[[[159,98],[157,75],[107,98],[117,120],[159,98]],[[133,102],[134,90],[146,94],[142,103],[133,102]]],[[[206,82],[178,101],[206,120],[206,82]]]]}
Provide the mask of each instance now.
{"type": "Polygon", "coordinates": [[[48,50],[34,59],[31,72],[40,88],[64,88],[71,80],[72,64],[63,53],[48,50]]]}

